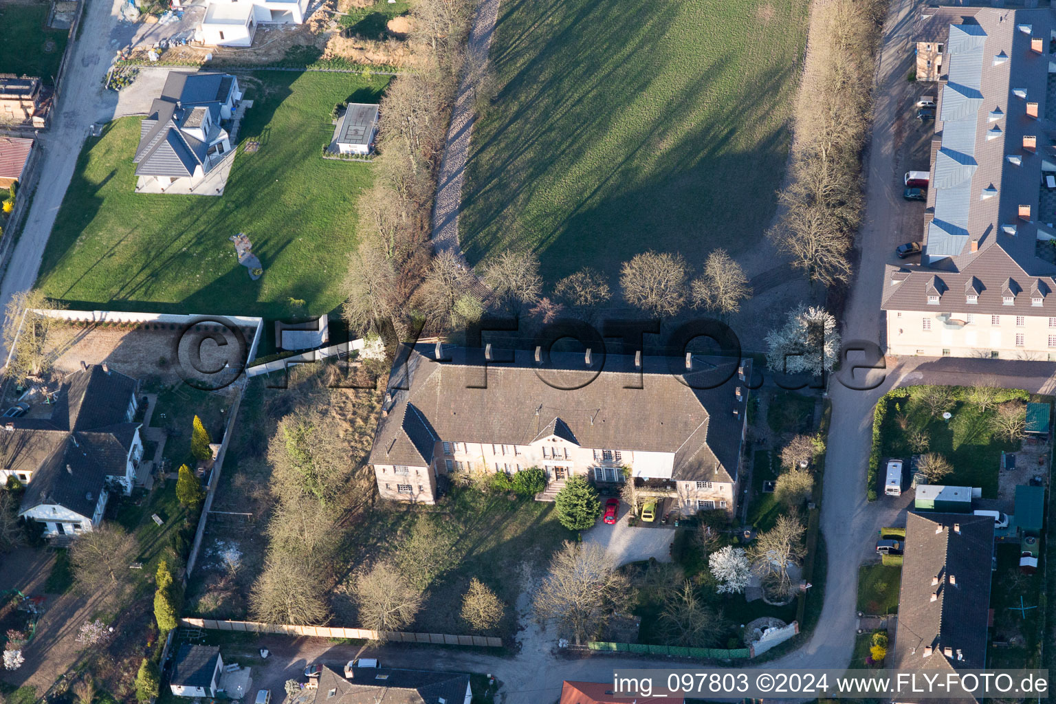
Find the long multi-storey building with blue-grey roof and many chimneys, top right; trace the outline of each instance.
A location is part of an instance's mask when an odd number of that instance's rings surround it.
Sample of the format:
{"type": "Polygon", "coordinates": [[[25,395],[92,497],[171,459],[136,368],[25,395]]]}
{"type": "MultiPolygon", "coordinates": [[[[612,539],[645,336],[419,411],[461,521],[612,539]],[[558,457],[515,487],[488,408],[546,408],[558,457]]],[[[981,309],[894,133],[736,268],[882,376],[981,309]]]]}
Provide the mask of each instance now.
{"type": "Polygon", "coordinates": [[[921,260],[884,272],[888,351],[1051,361],[1056,22],[968,9],[948,8],[921,260]]]}

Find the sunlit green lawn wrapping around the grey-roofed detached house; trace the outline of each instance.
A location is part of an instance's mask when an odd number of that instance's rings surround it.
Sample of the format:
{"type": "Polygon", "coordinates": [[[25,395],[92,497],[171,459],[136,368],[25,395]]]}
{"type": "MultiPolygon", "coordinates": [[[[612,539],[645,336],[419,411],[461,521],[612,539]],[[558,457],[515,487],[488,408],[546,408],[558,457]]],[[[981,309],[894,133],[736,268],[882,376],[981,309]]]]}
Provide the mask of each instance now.
{"type": "Polygon", "coordinates": [[[38,285],[71,308],[318,316],[340,305],[367,164],[323,159],[331,110],[377,101],[385,77],[256,72],[253,107],[223,196],[136,194],[139,118],[89,138],[44,251],[38,285]],[[264,275],[251,281],[228,237],[245,232],[264,275]],[[289,299],[306,301],[294,307],[289,299]]]}

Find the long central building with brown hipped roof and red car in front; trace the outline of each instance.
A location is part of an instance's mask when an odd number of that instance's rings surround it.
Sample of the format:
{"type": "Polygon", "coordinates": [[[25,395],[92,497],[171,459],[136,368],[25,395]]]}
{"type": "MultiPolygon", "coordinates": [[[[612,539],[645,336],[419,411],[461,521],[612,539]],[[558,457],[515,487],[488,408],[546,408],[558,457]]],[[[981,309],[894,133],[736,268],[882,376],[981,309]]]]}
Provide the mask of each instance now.
{"type": "Polygon", "coordinates": [[[432,503],[439,477],[539,467],[551,497],[573,474],[633,477],[683,514],[735,510],[750,360],[536,360],[541,349],[402,347],[370,457],[381,496],[432,503]]]}

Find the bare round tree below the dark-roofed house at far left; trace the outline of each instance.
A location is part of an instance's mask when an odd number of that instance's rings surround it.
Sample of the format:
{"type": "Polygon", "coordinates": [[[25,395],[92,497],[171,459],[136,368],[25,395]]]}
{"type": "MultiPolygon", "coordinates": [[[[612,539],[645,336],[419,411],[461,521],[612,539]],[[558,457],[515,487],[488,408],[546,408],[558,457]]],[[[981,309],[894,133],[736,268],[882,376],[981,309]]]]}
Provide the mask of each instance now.
{"type": "Polygon", "coordinates": [[[86,593],[110,592],[119,598],[129,584],[129,565],[139,547],[119,526],[103,522],[81,533],[70,547],[70,565],[86,593]]]}

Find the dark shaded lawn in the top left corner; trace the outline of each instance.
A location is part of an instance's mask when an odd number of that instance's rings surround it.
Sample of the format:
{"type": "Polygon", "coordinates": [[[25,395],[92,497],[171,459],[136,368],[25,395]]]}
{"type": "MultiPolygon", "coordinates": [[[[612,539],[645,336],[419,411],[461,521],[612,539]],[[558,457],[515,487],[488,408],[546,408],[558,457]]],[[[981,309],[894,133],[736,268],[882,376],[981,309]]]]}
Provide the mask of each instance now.
{"type": "Polygon", "coordinates": [[[44,28],[49,7],[48,3],[0,5],[0,73],[39,76],[52,82],[69,31],[44,28]]]}

